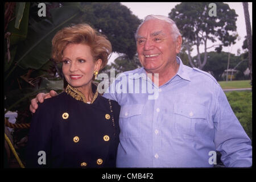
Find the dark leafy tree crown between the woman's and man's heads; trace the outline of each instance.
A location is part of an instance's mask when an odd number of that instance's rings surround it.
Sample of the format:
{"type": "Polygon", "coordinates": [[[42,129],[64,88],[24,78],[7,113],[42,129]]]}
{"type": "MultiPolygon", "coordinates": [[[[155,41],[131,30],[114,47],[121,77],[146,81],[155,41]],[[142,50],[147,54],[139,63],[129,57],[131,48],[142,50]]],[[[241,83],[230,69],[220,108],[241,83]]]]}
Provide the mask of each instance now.
{"type": "Polygon", "coordinates": [[[113,52],[125,53],[132,59],[136,53],[134,33],[141,23],[137,16],[119,2],[84,2],[77,22],[92,25],[106,35],[113,52]]]}

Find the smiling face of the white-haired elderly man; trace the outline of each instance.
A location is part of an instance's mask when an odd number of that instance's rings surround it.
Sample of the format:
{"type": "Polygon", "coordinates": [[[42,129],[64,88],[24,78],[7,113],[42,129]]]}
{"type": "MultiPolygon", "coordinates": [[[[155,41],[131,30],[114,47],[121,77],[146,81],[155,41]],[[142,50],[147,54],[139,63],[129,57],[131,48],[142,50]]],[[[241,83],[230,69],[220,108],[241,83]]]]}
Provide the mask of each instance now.
{"type": "Polygon", "coordinates": [[[181,43],[174,40],[171,31],[171,25],[159,19],[147,20],[139,28],[137,52],[148,73],[160,73],[176,61],[181,43]]]}

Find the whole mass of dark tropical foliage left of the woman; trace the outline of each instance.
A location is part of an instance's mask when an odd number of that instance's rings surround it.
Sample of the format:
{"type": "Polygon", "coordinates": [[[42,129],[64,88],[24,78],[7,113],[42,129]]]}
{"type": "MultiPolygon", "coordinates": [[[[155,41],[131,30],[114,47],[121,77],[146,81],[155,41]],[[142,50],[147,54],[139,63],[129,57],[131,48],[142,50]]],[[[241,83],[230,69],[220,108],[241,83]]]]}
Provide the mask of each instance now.
{"type": "MultiPolygon", "coordinates": [[[[19,29],[15,28],[16,20],[9,22],[7,32],[10,32],[10,48],[11,61],[5,59],[5,108],[8,110],[10,106],[16,104],[15,101],[19,98],[24,98],[15,106],[12,106],[12,111],[23,110],[29,105],[31,97],[25,97],[29,93],[36,94],[36,90],[45,88],[44,92],[50,89],[56,91],[62,90],[59,86],[60,78],[55,78],[55,64],[49,61],[51,55],[51,39],[56,31],[67,26],[81,13],[80,9],[75,4],[68,6],[57,7],[50,9],[51,18],[38,19],[38,15],[30,15],[30,3],[26,3],[23,8],[23,16],[20,15],[23,3],[16,7],[19,11],[17,18],[19,18],[19,29]],[[29,16],[30,15],[30,16],[29,16]],[[61,15],[61,16],[60,16],[61,15]],[[30,22],[30,23],[28,23],[30,22]],[[27,36],[29,35],[29,36],[27,36]],[[17,39],[19,37],[23,39],[17,39]],[[17,67],[18,65],[18,67],[17,67]],[[50,80],[49,80],[50,79],[50,80]],[[55,84],[52,84],[56,81],[55,84]],[[14,93],[15,96],[14,96],[14,93]]],[[[6,42],[7,44],[7,42],[6,42]]],[[[5,47],[7,51],[7,47],[5,47]]],[[[33,96],[34,97],[34,96],[33,96]]]]}

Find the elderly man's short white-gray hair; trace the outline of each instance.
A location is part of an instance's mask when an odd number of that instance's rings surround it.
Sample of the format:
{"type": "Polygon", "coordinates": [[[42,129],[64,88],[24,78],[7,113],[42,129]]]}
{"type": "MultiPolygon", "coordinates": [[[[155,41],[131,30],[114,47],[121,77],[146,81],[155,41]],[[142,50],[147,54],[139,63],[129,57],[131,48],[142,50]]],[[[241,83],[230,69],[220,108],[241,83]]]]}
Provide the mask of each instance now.
{"type": "Polygon", "coordinates": [[[143,22],[137,28],[137,31],[136,31],[136,34],[135,34],[135,39],[137,39],[139,28],[141,28],[143,23],[145,23],[147,20],[150,20],[150,19],[160,19],[160,20],[163,20],[164,22],[169,23],[172,27],[171,34],[172,34],[174,40],[177,40],[178,36],[181,35],[179,29],[176,26],[176,23],[174,22],[174,20],[172,20],[172,19],[170,19],[170,18],[168,18],[167,16],[164,16],[164,15],[147,15],[144,18],[143,22]]]}

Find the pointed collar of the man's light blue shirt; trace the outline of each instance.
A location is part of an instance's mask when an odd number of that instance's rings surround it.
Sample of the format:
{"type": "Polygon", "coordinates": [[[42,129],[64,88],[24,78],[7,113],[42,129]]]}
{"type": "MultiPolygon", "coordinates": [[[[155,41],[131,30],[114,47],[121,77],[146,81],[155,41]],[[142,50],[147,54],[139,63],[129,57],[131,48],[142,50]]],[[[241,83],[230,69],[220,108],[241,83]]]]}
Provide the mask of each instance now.
{"type": "MultiPolygon", "coordinates": [[[[180,57],[176,56],[176,61],[177,61],[177,63],[179,64],[179,69],[178,69],[176,75],[179,75],[179,76],[180,76],[182,79],[184,79],[184,80],[191,81],[190,77],[188,76],[188,73],[187,73],[187,72],[185,71],[185,69],[184,69],[184,65],[183,65],[183,63],[182,63],[180,57]]],[[[138,73],[138,74],[134,74],[134,76],[133,76],[133,77],[130,77],[130,78],[131,78],[131,79],[134,79],[134,80],[139,79],[139,78],[142,78],[142,79],[144,79],[144,80],[147,80],[147,76],[146,76],[147,73],[146,73],[144,67],[142,67],[142,68],[140,69],[140,71],[137,72],[137,73],[138,73]]]]}

